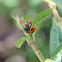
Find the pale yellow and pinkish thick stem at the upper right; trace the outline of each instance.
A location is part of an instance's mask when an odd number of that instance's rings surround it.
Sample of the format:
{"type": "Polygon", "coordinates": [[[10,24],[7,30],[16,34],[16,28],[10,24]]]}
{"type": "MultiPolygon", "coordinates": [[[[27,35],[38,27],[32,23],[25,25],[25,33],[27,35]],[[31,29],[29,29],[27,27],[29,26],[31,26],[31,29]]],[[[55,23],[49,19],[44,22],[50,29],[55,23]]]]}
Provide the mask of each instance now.
{"type": "Polygon", "coordinates": [[[49,0],[43,0],[43,1],[46,2],[49,5],[49,7],[51,8],[51,10],[52,10],[55,18],[57,19],[57,21],[60,21],[61,18],[58,14],[58,11],[56,10],[56,4],[52,1],[49,1],[49,0]]]}

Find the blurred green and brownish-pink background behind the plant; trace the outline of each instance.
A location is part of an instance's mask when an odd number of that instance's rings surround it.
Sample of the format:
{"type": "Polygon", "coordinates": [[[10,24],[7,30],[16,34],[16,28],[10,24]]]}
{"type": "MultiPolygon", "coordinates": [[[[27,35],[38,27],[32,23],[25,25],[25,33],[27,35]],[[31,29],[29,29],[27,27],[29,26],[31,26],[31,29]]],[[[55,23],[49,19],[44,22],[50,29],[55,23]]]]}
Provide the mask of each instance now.
{"type": "MultiPolygon", "coordinates": [[[[17,28],[11,15],[22,18],[28,15],[30,20],[33,20],[37,14],[47,8],[48,5],[41,0],[0,0],[0,62],[40,62],[26,42],[20,49],[14,46],[14,43],[24,34],[17,28]]],[[[62,16],[60,9],[57,9],[62,16]]],[[[50,58],[51,26],[52,17],[36,28],[36,44],[45,59],[50,58]]]]}

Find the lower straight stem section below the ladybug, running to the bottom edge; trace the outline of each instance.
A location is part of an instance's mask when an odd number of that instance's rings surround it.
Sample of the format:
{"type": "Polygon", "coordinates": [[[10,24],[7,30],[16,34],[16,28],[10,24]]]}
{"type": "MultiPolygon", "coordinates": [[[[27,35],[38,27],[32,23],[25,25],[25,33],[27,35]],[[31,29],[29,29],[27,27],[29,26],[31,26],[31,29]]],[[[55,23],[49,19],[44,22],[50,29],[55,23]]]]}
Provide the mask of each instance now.
{"type": "Polygon", "coordinates": [[[42,54],[41,54],[41,52],[39,51],[39,49],[37,48],[36,43],[35,43],[35,42],[32,42],[30,46],[31,46],[32,49],[34,50],[34,52],[35,52],[35,54],[37,55],[37,57],[39,58],[39,60],[40,60],[41,62],[44,62],[45,59],[44,59],[44,57],[42,56],[42,54]]]}

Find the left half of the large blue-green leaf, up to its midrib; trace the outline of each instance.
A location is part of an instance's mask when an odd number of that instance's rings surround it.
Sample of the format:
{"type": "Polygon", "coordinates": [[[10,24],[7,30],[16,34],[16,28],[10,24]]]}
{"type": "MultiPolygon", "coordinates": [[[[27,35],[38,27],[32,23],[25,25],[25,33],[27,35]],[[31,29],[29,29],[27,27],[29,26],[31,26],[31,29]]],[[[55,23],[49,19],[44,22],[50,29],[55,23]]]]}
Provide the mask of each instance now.
{"type": "Polygon", "coordinates": [[[59,39],[58,39],[58,27],[53,25],[50,33],[50,55],[53,56],[54,51],[58,47],[59,39]]]}

